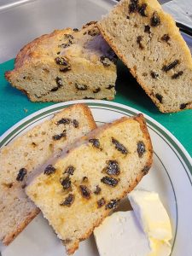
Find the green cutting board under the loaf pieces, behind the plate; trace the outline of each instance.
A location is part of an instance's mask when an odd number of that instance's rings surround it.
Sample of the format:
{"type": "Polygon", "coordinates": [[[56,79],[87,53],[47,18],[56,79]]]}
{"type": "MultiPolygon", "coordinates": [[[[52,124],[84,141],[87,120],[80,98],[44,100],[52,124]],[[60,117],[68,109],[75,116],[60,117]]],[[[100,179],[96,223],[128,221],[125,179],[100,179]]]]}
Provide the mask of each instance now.
{"type": "MultiPolygon", "coordinates": [[[[14,67],[14,60],[0,64],[0,134],[7,131],[20,119],[54,103],[30,102],[26,95],[16,90],[4,79],[4,72],[14,67]]],[[[147,113],[161,125],[164,125],[192,156],[192,110],[180,113],[160,113],[154,103],[146,96],[142,88],[131,77],[122,63],[118,65],[117,95],[119,102],[147,113]]]]}

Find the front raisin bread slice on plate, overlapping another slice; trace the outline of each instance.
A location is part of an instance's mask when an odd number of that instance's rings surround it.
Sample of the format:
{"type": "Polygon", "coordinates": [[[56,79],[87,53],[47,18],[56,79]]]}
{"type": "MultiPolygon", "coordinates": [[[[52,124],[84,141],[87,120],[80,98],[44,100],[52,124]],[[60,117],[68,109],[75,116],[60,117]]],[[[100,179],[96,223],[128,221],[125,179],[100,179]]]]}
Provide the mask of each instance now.
{"type": "Polygon", "coordinates": [[[148,172],[152,145],[143,115],[122,118],[49,160],[26,194],[72,254],[148,172]]]}

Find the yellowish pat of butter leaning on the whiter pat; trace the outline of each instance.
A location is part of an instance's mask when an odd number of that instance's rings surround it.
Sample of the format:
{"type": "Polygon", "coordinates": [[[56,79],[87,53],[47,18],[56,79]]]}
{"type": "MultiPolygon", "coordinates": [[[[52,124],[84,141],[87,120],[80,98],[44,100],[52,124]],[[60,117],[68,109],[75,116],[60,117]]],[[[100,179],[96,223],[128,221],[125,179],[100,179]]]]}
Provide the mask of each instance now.
{"type": "Polygon", "coordinates": [[[148,237],[167,242],[172,239],[170,219],[157,193],[133,190],[128,197],[148,237]]]}

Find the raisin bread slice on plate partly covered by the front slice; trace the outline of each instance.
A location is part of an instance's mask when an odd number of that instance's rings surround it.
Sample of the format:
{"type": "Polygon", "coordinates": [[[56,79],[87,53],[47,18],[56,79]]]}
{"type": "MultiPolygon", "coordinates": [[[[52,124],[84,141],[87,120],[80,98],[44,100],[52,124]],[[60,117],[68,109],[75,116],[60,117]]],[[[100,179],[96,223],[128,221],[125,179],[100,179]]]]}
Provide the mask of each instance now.
{"type": "Polygon", "coordinates": [[[0,151],[0,239],[8,245],[39,210],[27,198],[26,178],[50,155],[96,128],[90,109],[76,104],[32,128],[0,151]]]}

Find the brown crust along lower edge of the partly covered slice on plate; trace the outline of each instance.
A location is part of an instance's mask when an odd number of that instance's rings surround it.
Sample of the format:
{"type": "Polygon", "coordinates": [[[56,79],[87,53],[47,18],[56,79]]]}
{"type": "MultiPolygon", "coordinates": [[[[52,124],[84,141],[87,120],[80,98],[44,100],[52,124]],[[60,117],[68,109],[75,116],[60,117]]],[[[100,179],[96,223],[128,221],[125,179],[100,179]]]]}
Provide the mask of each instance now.
{"type": "Polygon", "coordinates": [[[8,246],[9,243],[11,241],[13,241],[15,239],[15,237],[18,236],[22,230],[25,229],[27,224],[29,224],[32,221],[32,219],[35,218],[38,215],[39,212],[40,212],[40,210],[38,208],[34,209],[33,212],[30,212],[30,214],[25,219],[25,221],[22,224],[17,226],[16,230],[14,230],[13,232],[9,233],[8,236],[5,236],[3,238],[3,244],[5,246],[8,246]]]}

